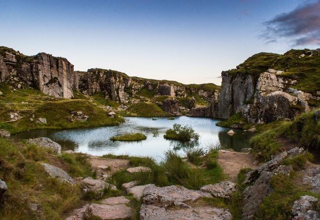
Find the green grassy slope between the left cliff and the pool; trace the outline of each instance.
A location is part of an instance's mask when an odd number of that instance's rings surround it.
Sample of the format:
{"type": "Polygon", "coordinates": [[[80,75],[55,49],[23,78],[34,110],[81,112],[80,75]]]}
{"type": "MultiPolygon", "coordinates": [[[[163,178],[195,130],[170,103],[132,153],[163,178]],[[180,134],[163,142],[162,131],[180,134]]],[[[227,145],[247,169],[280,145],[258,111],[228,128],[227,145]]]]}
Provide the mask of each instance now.
{"type": "Polygon", "coordinates": [[[13,90],[5,83],[0,83],[0,91],[3,92],[3,95],[0,96],[0,120],[9,121],[10,112],[18,112],[22,116],[20,120],[0,124],[0,127],[8,129],[11,134],[37,128],[105,126],[124,122],[122,117],[109,117],[107,112],[99,107],[103,104],[116,107],[118,104],[103,102],[104,100],[98,94],[95,97],[87,97],[75,92],[75,97],[80,99],[54,98],[36,89],[13,90]],[[67,120],[67,117],[70,117],[68,111],[82,111],[84,115],[89,116],[89,119],[86,122],[69,122],[67,120]],[[35,123],[39,117],[46,118],[48,123],[44,125],[35,123]],[[31,121],[30,118],[33,118],[34,121],[31,121]]]}

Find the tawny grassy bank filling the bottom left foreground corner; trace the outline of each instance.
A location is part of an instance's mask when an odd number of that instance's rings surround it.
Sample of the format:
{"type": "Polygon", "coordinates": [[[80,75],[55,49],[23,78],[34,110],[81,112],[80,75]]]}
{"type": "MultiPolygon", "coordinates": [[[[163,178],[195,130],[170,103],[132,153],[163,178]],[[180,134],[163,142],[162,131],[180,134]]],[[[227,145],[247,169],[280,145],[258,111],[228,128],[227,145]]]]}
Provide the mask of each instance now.
{"type": "MultiPolygon", "coordinates": [[[[78,166],[86,170],[83,160],[87,159],[80,156],[78,166]]],[[[0,179],[8,187],[0,198],[1,220],[63,220],[82,205],[80,189],[49,177],[40,163],[63,166],[72,173],[72,166],[46,149],[0,138],[0,179]]]]}

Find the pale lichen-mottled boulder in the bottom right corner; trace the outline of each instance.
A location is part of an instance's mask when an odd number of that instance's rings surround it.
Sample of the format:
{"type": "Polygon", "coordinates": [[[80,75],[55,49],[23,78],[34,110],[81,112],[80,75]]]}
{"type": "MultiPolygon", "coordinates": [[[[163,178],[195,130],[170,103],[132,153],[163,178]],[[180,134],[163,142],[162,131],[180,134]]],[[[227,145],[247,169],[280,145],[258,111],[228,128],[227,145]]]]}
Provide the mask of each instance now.
{"type": "Polygon", "coordinates": [[[293,202],[292,220],[319,220],[320,212],[312,210],[318,198],[310,195],[300,196],[299,199],[293,202]]]}

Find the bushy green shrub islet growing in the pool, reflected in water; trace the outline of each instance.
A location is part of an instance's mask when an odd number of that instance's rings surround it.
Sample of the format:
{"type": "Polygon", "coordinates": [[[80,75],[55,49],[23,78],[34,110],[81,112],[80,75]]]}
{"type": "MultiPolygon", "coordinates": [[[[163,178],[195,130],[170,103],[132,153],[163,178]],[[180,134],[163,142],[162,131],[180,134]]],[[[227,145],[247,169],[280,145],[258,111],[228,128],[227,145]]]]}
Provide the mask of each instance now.
{"type": "Polygon", "coordinates": [[[199,139],[199,134],[195,133],[192,127],[180,124],[174,124],[172,129],[168,129],[163,136],[166,139],[174,140],[184,140],[184,141],[197,141],[199,139]]]}

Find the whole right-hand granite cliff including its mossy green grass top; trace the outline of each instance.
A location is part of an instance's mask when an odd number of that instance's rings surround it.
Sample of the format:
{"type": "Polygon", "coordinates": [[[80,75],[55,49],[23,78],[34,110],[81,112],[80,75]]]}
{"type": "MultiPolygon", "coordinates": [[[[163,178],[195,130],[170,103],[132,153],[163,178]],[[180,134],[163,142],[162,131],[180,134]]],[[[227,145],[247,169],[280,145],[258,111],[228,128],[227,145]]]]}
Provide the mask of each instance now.
{"type": "Polygon", "coordinates": [[[242,112],[249,123],[293,119],[320,106],[320,49],[259,53],[222,72],[218,102],[192,109],[194,116],[229,118],[242,112]]]}

